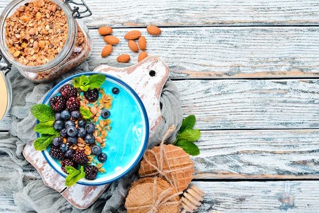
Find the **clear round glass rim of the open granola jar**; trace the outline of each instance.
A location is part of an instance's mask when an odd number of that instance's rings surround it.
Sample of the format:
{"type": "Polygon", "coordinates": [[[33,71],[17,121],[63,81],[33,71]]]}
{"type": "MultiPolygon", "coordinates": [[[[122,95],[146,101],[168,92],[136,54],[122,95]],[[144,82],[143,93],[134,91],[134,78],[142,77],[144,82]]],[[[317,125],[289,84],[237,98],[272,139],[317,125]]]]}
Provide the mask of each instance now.
{"type": "Polygon", "coordinates": [[[32,1],[34,0],[13,0],[3,10],[3,13],[0,16],[0,46],[4,48],[1,51],[3,57],[6,58],[13,66],[16,66],[22,70],[26,70],[30,72],[41,72],[41,71],[58,66],[66,57],[68,57],[71,54],[71,50],[73,49],[74,41],[76,38],[77,29],[76,29],[76,23],[75,23],[73,14],[68,8],[68,6],[63,1],[60,1],[60,0],[48,0],[50,2],[57,4],[64,11],[64,14],[66,15],[67,24],[68,24],[68,35],[64,43],[64,46],[62,47],[61,51],[54,59],[48,61],[45,64],[37,65],[37,66],[26,66],[19,63],[16,59],[13,58],[6,44],[6,39],[5,39],[6,18],[9,17],[13,12],[15,12],[15,10],[21,5],[32,2],[32,1]]]}

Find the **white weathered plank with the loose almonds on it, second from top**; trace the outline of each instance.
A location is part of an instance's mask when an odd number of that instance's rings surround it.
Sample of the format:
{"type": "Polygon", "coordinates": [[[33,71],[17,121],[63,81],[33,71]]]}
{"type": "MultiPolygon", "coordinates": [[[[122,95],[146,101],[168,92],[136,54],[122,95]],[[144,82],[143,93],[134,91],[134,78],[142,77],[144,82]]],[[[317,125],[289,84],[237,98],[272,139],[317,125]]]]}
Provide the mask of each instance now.
{"type": "MultiPolygon", "coordinates": [[[[114,29],[120,39],[105,63],[117,63],[129,54],[137,63],[124,35],[130,29],[114,29]]],[[[165,28],[160,36],[146,37],[146,52],[170,68],[173,78],[274,78],[317,77],[319,75],[318,27],[203,27],[165,28]]],[[[90,30],[93,49],[90,59],[101,59],[105,46],[97,30],[90,30]]]]}

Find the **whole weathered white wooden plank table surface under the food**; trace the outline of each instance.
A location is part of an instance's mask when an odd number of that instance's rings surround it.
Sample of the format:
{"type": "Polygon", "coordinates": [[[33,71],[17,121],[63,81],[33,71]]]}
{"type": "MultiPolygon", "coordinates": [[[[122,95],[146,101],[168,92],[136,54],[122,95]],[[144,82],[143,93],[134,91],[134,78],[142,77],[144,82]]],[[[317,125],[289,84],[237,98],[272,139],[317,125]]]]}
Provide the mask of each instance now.
{"type": "MultiPolygon", "coordinates": [[[[148,55],[169,66],[184,116],[196,116],[192,183],[206,193],[197,212],[319,212],[317,0],[86,3],[90,59],[105,45],[97,29],[109,25],[120,38],[110,59],[137,62],[123,36],[140,30],[148,55]],[[148,35],[150,24],[162,34],[148,35]]],[[[10,115],[0,123],[9,128],[10,115]]],[[[1,193],[0,210],[18,211],[1,193]]]]}

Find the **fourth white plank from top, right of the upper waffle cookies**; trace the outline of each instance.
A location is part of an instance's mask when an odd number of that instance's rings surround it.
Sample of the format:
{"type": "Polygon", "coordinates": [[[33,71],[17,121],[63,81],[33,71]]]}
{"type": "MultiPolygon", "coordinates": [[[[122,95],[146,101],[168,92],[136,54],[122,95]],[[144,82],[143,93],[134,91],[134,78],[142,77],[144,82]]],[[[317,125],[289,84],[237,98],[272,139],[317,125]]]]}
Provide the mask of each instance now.
{"type": "Polygon", "coordinates": [[[319,130],[201,131],[194,178],[319,179],[319,130]]]}

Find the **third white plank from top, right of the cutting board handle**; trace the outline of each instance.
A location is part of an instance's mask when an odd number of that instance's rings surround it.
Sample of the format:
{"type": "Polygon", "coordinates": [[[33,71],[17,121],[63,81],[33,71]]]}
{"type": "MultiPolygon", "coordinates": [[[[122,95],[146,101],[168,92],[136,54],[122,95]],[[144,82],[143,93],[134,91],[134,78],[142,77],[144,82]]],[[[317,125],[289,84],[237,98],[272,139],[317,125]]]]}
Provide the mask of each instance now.
{"type": "Polygon", "coordinates": [[[175,81],[185,116],[196,127],[212,129],[319,128],[319,81],[175,81]]]}

